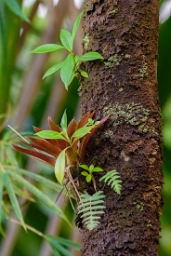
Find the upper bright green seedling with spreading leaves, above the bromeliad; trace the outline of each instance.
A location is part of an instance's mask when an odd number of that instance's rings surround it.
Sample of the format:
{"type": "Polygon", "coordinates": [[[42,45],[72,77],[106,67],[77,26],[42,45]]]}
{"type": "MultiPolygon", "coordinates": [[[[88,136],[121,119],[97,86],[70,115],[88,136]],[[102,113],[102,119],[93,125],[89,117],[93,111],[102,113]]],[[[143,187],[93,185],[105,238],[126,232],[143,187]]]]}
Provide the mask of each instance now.
{"type": "Polygon", "coordinates": [[[59,37],[61,45],[46,44],[40,47],[36,47],[33,49],[33,51],[31,51],[32,53],[46,53],[59,49],[66,49],[69,52],[64,61],[54,64],[46,71],[46,74],[43,76],[43,78],[45,78],[47,75],[53,74],[60,69],[60,77],[66,89],[68,89],[68,86],[72,83],[74,76],[79,76],[81,74],[85,78],[88,77],[88,74],[80,69],[81,61],[103,60],[103,57],[99,54],[99,52],[87,52],[81,57],[74,55],[73,43],[83,12],[81,12],[75,20],[72,34],[64,29],[60,31],[59,37]]]}

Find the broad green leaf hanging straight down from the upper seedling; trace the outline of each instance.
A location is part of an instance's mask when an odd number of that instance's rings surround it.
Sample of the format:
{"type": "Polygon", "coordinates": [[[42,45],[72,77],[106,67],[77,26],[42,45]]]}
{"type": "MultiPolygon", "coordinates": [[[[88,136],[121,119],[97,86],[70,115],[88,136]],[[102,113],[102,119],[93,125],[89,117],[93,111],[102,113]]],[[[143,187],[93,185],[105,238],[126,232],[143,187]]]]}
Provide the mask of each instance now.
{"type": "Polygon", "coordinates": [[[72,55],[69,54],[65,59],[65,61],[63,61],[63,64],[60,69],[60,77],[66,89],[71,83],[73,67],[74,67],[73,58],[72,58],[72,55]]]}

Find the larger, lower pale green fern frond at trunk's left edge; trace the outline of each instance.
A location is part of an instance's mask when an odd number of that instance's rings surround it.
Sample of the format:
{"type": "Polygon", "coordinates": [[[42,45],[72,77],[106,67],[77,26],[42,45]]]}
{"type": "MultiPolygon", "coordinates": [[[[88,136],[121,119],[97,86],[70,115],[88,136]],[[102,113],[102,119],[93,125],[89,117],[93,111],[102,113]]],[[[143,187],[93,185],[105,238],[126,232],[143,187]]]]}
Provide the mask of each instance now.
{"type": "Polygon", "coordinates": [[[83,218],[83,222],[85,222],[85,226],[92,230],[99,224],[100,214],[103,214],[104,211],[102,209],[105,206],[101,205],[104,203],[102,198],[105,195],[102,195],[102,191],[98,191],[94,195],[81,195],[80,205],[78,206],[78,214],[82,214],[81,218],[83,218]]]}

